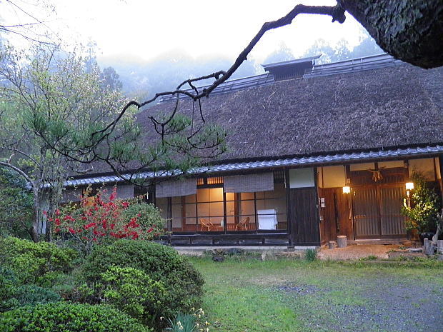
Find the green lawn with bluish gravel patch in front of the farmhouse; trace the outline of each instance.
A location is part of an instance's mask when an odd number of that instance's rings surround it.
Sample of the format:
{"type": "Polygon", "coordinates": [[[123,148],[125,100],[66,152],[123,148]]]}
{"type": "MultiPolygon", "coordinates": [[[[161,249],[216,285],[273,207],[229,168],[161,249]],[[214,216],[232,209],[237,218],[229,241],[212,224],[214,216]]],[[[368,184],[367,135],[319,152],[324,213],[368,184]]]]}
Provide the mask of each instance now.
{"type": "Polygon", "coordinates": [[[192,261],[212,331],[443,331],[442,264],[192,261]]]}

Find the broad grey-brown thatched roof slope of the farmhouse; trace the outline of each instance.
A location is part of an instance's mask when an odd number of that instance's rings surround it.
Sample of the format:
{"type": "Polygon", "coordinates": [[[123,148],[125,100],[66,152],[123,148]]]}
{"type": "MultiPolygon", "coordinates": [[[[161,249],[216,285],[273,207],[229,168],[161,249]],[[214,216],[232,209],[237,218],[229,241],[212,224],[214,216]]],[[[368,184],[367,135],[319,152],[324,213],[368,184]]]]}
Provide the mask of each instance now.
{"type": "MultiPolygon", "coordinates": [[[[443,67],[402,64],[311,79],[277,81],[202,101],[206,121],[229,132],[220,161],[384,149],[443,142],[443,67]]],[[[171,102],[139,114],[172,109],[171,102]]],[[[191,101],[180,101],[191,114],[191,101]]]]}

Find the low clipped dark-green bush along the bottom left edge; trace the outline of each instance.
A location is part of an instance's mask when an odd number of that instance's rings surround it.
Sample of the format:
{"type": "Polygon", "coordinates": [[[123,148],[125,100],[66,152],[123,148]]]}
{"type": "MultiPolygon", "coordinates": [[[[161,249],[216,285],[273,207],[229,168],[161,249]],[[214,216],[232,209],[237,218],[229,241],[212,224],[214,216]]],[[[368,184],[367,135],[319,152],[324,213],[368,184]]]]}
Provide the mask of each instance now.
{"type": "Polygon", "coordinates": [[[110,306],[67,302],[18,308],[0,315],[1,331],[148,332],[134,318],[110,306]]]}

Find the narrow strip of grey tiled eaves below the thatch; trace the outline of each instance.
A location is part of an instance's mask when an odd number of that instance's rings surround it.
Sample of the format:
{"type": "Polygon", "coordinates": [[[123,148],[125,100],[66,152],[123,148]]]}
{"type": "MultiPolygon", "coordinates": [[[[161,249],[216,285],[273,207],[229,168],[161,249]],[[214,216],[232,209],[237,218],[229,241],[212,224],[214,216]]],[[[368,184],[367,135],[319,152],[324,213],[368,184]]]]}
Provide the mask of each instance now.
{"type": "MultiPolygon", "coordinates": [[[[390,159],[394,157],[404,158],[404,157],[414,157],[414,156],[426,156],[432,154],[442,154],[443,145],[435,146],[425,146],[425,147],[414,147],[414,148],[404,148],[404,149],[388,149],[379,151],[369,151],[369,152],[353,152],[344,154],[326,154],[319,156],[306,156],[306,157],[294,157],[287,159],[273,159],[268,161],[245,161],[239,163],[227,163],[227,164],[216,164],[211,166],[203,166],[191,169],[190,174],[201,174],[201,173],[218,173],[226,171],[249,171],[258,170],[261,168],[273,168],[273,167],[283,167],[283,166],[312,166],[317,164],[329,164],[329,163],[349,163],[353,161],[365,161],[369,159],[390,159]]],[[[133,178],[154,178],[154,177],[165,177],[171,175],[181,175],[179,171],[172,172],[142,172],[133,176],[133,178]]],[[[124,176],[127,179],[130,175],[124,176]]],[[[116,183],[123,182],[124,179],[119,178],[119,176],[96,176],[90,178],[78,178],[71,179],[64,183],[65,186],[86,186],[93,183],[116,183]]]]}

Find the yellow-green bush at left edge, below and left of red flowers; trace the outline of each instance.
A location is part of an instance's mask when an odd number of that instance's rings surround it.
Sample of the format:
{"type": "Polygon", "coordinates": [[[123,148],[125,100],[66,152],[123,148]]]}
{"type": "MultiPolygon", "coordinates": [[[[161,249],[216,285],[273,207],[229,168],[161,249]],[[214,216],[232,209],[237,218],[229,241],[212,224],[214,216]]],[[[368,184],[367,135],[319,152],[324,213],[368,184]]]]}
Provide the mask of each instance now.
{"type": "Polygon", "coordinates": [[[34,243],[20,238],[0,240],[0,265],[11,268],[21,283],[50,286],[56,276],[68,272],[76,251],[54,243],[34,243]]]}

